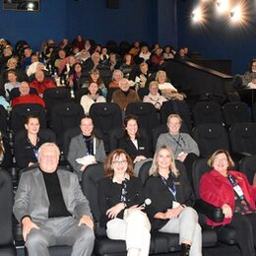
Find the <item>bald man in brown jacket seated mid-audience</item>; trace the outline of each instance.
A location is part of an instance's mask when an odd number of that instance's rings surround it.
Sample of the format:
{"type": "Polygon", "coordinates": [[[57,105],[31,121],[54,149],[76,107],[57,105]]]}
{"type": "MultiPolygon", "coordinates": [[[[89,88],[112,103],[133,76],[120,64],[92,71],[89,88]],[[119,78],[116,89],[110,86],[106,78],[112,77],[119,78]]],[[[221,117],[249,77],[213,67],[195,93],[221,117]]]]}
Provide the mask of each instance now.
{"type": "Polygon", "coordinates": [[[121,110],[125,111],[129,103],[139,101],[141,99],[134,90],[130,89],[128,79],[122,78],[119,81],[119,89],[115,90],[112,95],[112,102],[117,103],[121,110]]]}

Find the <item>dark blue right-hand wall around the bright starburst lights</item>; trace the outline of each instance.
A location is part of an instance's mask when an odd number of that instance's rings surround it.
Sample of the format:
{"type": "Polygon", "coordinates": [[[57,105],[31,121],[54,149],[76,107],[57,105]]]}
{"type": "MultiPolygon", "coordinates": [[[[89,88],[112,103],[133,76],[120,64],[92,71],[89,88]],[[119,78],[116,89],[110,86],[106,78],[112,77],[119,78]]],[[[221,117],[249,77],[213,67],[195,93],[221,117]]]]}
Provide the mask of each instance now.
{"type": "Polygon", "coordinates": [[[209,6],[204,26],[193,26],[190,14],[197,2],[177,2],[178,45],[187,45],[191,51],[199,51],[206,58],[232,59],[233,74],[243,73],[249,60],[256,57],[255,1],[244,1],[247,5],[244,26],[231,26],[229,19],[217,17],[215,6],[209,6]]]}

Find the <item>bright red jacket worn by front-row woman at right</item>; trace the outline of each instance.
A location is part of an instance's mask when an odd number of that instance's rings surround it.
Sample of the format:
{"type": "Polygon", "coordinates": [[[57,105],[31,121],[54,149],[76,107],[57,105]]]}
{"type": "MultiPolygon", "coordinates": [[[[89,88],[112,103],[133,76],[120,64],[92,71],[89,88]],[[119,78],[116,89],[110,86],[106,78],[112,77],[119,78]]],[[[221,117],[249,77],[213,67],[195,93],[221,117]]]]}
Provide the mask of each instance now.
{"type": "MultiPolygon", "coordinates": [[[[234,176],[239,183],[244,197],[252,210],[256,210],[256,187],[249,184],[247,177],[243,173],[234,170],[229,170],[228,173],[234,176]]],[[[232,209],[232,213],[234,212],[235,200],[233,187],[228,179],[219,171],[213,169],[202,176],[199,185],[199,194],[204,201],[220,208],[224,204],[227,204],[232,209]]],[[[209,225],[229,224],[230,222],[231,218],[224,218],[223,223],[214,223],[210,219],[207,219],[207,224],[209,225]]]]}

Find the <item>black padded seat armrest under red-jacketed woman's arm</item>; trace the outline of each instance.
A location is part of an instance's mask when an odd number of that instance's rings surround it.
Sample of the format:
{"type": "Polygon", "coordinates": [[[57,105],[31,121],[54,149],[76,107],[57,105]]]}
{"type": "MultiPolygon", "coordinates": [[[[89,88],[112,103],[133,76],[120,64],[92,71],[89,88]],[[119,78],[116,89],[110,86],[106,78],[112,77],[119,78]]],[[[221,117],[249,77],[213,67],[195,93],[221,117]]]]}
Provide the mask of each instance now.
{"type": "Polygon", "coordinates": [[[204,214],[215,223],[222,223],[224,221],[223,210],[203,201],[202,199],[196,201],[194,208],[197,212],[204,214]]]}

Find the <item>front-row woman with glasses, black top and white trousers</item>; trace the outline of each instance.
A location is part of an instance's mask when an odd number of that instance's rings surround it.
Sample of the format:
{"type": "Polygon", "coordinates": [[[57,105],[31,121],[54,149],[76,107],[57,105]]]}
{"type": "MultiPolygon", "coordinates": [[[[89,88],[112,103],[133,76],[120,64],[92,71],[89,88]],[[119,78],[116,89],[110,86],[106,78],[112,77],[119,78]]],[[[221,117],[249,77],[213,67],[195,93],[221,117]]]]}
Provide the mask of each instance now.
{"type": "Polygon", "coordinates": [[[110,239],[125,240],[128,256],[148,256],[151,224],[145,213],[143,186],[133,176],[133,162],[123,150],[111,152],[104,162],[106,177],[98,184],[100,225],[110,239]]]}

